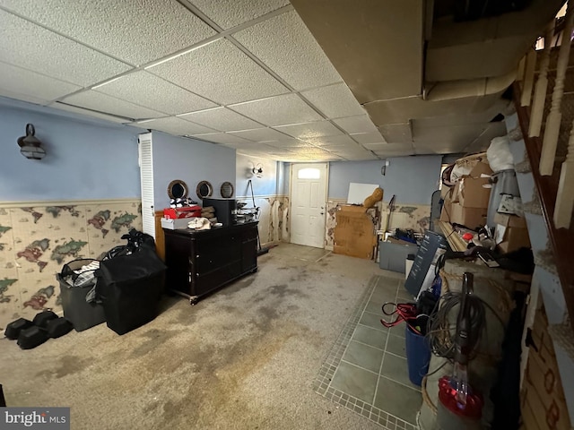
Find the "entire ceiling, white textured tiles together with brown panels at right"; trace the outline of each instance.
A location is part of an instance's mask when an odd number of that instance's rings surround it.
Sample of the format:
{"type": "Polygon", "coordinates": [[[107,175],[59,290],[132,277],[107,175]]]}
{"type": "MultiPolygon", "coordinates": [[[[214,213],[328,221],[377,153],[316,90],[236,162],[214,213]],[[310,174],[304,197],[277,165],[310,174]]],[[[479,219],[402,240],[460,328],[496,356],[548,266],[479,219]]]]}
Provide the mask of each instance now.
{"type": "Polygon", "coordinates": [[[476,150],[505,133],[500,94],[561,4],[468,37],[432,2],[292,3],[0,0],[0,96],[282,161],[476,150]],[[481,67],[457,68],[465,47],[481,67]]]}

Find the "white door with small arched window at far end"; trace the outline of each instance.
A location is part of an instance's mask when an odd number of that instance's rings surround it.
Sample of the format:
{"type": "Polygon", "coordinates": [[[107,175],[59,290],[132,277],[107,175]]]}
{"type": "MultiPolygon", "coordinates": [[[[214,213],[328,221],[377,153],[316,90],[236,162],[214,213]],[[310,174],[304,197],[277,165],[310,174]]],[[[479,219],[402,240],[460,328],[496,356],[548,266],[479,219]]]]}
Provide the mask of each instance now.
{"type": "Polygon", "coordinates": [[[325,247],[327,163],[291,166],[291,243],[325,247]]]}

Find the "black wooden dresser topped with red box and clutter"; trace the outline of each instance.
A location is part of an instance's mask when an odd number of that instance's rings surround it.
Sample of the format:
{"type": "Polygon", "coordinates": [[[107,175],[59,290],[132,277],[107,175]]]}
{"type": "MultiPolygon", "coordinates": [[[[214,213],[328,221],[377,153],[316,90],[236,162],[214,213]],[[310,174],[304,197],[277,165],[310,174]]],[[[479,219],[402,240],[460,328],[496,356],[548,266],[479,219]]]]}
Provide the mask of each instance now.
{"type": "Polygon", "coordinates": [[[257,271],[257,221],[211,230],[170,230],[165,234],[166,287],[202,296],[257,271]]]}

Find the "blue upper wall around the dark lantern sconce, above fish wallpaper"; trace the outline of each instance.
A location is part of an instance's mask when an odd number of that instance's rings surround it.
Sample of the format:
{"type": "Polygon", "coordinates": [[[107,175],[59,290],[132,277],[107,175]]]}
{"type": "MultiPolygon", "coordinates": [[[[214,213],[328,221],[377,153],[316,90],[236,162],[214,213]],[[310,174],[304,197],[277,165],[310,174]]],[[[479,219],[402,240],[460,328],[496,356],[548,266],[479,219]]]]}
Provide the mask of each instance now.
{"type": "Polygon", "coordinates": [[[0,100],[0,201],[138,198],[139,129],[59,112],[0,100]],[[46,158],[20,153],[16,140],[27,123],[36,128],[46,158]]]}

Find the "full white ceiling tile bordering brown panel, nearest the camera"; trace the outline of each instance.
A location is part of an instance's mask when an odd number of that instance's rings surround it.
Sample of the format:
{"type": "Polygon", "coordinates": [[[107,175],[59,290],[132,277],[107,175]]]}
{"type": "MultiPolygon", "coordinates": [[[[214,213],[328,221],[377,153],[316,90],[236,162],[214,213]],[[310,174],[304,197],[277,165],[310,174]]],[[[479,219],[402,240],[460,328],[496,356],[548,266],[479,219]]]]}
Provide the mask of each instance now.
{"type": "Polygon", "coordinates": [[[259,22],[233,38],[296,90],[343,81],[295,11],[259,22]]]}

